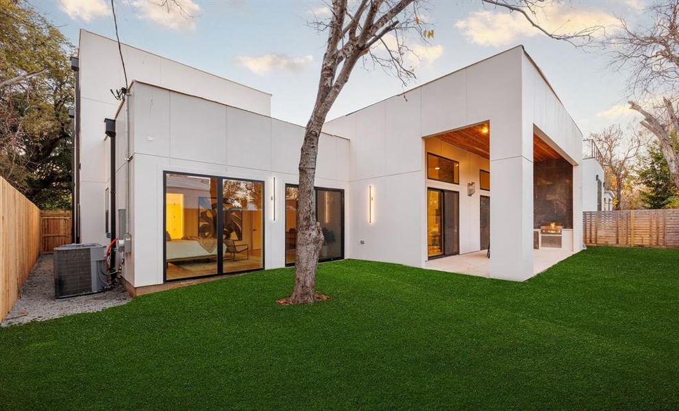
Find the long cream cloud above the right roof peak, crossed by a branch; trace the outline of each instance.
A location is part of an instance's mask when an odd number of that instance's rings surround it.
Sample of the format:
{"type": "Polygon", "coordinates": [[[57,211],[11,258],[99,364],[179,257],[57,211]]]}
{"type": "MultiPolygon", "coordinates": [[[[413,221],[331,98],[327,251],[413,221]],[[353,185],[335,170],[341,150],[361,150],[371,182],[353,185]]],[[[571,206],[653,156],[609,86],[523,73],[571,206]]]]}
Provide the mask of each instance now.
{"type": "MultiPolygon", "coordinates": [[[[547,32],[571,34],[587,27],[601,26],[605,31],[617,29],[618,19],[613,14],[598,10],[576,10],[567,5],[554,4],[545,7],[534,18],[547,32]]],[[[506,46],[521,37],[542,34],[517,12],[471,12],[467,18],[458,20],[455,26],[471,42],[482,46],[506,46]]],[[[594,36],[602,36],[600,29],[594,36]]]]}

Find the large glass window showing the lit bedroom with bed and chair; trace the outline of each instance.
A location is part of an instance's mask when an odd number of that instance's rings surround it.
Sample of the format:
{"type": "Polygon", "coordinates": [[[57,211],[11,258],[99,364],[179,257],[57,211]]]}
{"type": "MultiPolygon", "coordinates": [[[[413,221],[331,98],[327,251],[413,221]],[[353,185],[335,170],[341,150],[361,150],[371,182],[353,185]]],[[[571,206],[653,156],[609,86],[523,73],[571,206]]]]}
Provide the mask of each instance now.
{"type": "Polygon", "coordinates": [[[263,194],[262,182],[166,173],[165,279],[262,269],[263,194]]]}

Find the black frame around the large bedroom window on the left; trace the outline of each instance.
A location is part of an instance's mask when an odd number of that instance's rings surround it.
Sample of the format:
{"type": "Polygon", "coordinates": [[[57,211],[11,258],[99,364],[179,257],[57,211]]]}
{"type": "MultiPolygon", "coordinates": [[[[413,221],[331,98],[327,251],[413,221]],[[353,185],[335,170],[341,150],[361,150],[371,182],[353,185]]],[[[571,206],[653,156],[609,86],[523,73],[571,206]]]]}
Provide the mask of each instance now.
{"type": "MultiPolygon", "coordinates": [[[[186,173],[184,171],[169,171],[165,170],[162,172],[162,282],[168,283],[168,282],[179,282],[179,281],[186,281],[188,279],[198,279],[198,278],[210,278],[210,277],[217,277],[219,275],[237,275],[237,274],[242,274],[242,273],[254,273],[256,271],[262,271],[265,269],[266,265],[266,247],[267,247],[267,242],[266,242],[266,234],[267,234],[267,201],[264,201],[264,199],[267,198],[267,184],[264,182],[264,180],[258,180],[258,179],[248,179],[248,178],[240,178],[240,177],[228,177],[224,175],[210,175],[210,174],[202,174],[202,173],[186,173]],[[182,277],[182,278],[175,278],[175,279],[167,279],[167,241],[165,240],[165,232],[166,232],[166,218],[167,218],[167,175],[168,174],[175,174],[175,175],[189,175],[191,177],[207,177],[207,178],[216,178],[217,179],[217,204],[223,204],[223,196],[224,196],[224,180],[225,179],[231,179],[231,180],[236,180],[236,181],[241,181],[241,182],[253,182],[253,183],[262,183],[262,267],[260,269],[252,269],[252,270],[241,270],[241,271],[230,271],[228,273],[224,273],[224,245],[223,242],[217,241],[217,273],[214,274],[206,274],[206,275],[197,275],[195,277],[182,277]]],[[[224,224],[224,210],[223,206],[217,208],[217,232],[221,233],[223,232],[223,224],[224,224]]]]}

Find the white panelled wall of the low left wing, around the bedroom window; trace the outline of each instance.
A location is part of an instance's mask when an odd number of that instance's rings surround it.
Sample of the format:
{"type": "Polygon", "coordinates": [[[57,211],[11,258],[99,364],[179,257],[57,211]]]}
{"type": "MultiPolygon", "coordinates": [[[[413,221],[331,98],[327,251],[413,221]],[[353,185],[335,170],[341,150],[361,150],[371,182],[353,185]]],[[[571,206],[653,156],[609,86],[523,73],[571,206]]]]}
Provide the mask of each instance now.
{"type": "MultiPolygon", "coordinates": [[[[304,127],[140,82],[134,83],[131,94],[133,251],[126,258],[125,278],[136,287],[163,281],[164,171],[263,181],[264,268],[284,266],[284,187],[297,184],[304,127]],[[274,177],[275,221],[271,199],[274,177]]],[[[121,126],[124,116],[123,107],[117,117],[121,126]]],[[[119,138],[116,145],[120,152],[124,152],[123,141],[119,138]]],[[[349,199],[347,164],[349,141],[323,134],[316,185],[345,190],[345,203],[349,199]]],[[[124,187],[123,171],[121,160],[119,187],[124,187]]],[[[118,208],[123,208],[120,192],[124,188],[119,190],[118,208]]],[[[345,213],[348,210],[347,205],[345,213]]]]}

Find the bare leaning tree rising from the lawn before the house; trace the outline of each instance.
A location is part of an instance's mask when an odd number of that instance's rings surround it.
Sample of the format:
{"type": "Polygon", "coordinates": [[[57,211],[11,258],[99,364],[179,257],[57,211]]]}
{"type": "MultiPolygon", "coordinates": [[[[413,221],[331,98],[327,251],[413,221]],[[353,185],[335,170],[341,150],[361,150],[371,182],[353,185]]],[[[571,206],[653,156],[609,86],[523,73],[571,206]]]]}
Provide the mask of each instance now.
{"type": "MultiPolygon", "coordinates": [[[[323,232],[316,221],[314,204],[314,178],[316,177],[316,162],[319,151],[319,136],[325,116],[328,115],[332,104],[347,84],[349,75],[356,62],[362,55],[371,55],[373,62],[384,67],[391,67],[399,77],[412,77],[412,71],[404,67],[403,37],[396,36],[397,47],[389,48],[384,42],[384,35],[397,29],[415,29],[421,32],[417,10],[410,16],[401,16],[405,21],[399,21],[397,16],[404,12],[408,5],[418,0],[360,0],[354,7],[347,8],[348,0],[332,0],[330,21],[317,22],[321,29],[328,29],[328,43],[326,44],[321,76],[316,96],[316,103],[311,113],[304,133],[304,144],[299,156],[299,191],[297,198],[297,249],[295,251],[295,287],[291,297],[280,300],[279,303],[312,303],[317,300],[315,293],[316,269],[323,246],[323,232]],[[346,21],[346,24],[345,24],[346,21]],[[382,42],[388,51],[388,58],[378,58],[371,54],[371,47],[376,42],[382,42]]],[[[493,1],[481,0],[497,7],[507,8],[519,12],[536,25],[530,14],[534,11],[534,0],[493,1]],[[530,13],[526,13],[526,10],[530,13]]],[[[543,30],[543,29],[542,29],[543,30]]],[[[580,36],[589,37],[593,30],[585,30],[573,36],[558,36],[545,34],[560,40],[570,40],[580,36]]],[[[430,32],[432,35],[433,32],[430,32]]]]}

